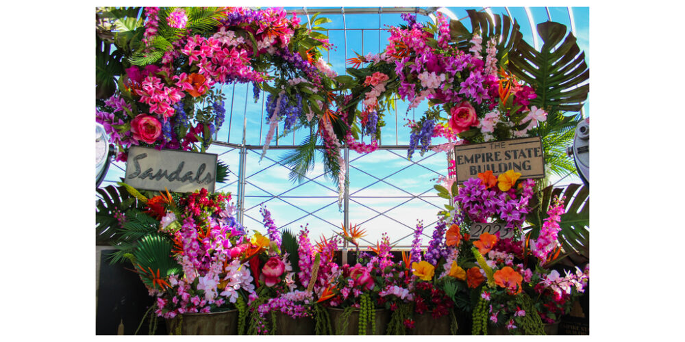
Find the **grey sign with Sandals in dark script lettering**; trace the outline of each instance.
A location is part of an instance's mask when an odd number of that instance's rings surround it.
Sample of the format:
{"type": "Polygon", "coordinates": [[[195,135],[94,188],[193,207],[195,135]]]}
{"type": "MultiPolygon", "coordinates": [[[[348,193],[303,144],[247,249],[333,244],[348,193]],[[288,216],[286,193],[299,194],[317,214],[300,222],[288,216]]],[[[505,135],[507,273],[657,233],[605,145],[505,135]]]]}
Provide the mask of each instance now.
{"type": "Polygon", "coordinates": [[[132,146],[124,183],[136,189],[214,192],[217,155],[132,146]]]}

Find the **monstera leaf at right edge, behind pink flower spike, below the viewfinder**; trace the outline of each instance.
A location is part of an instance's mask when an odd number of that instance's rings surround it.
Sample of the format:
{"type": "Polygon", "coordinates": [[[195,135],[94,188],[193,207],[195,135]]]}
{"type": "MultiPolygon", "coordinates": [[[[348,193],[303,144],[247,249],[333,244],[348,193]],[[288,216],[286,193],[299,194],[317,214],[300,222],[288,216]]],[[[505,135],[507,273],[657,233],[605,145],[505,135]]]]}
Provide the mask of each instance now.
{"type": "Polygon", "coordinates": [[[566,197],[561,215],[558,239],[562,248],[575,263],[590,259],[590,198],[588,187],[580,184],[569,184],[564,188],[545,187],[539,196],[530,200],[532,211],[526,221],[532,224],[530,238],[536,239],[540,233],[551,200],[555,197],[566,197]]]}

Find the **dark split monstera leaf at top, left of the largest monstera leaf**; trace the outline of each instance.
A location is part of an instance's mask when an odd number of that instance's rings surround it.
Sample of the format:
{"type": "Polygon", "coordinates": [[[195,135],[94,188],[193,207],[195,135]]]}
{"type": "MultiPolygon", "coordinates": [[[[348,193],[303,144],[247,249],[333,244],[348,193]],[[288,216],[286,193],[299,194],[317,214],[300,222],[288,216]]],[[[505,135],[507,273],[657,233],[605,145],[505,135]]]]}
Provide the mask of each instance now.
{"type": "Polygon", "coordinates": [[[471,31],[466,29],[460,21],[450,21],[449,23],[452,41],[461,51],[469,51],[471,47],[469,41],[473,38],[473,32],[479,32],[483,38],[483,47],[487,46],[490,38],[497,37],[497,60],[502,61],[506,60],[508,51],[513,49],[523,38],[521,31],[519,31],[519,24],[516,23],[516,20],[512,23],[508,16],[496,14],[493,18],[486,12],[475,10],[466,10],[466,12],[471,18],[471,31]]]}

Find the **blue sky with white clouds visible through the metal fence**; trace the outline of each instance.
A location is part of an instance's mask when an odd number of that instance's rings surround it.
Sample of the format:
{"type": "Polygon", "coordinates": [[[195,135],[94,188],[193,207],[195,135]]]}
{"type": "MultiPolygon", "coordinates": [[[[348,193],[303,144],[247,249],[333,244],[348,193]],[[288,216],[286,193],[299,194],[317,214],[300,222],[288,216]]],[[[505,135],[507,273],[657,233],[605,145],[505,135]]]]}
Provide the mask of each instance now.
{"type": "MultiPolygon", "coordinates": [[[[290,10],[293,8],[286,8],[290,10]]],[[[301,9],[301,8],[297,8],[301,9]]],[[[464,25],[471,27],[466,14],[467,8],[449,8],[458,18],[464,18],[464,25]]],[[[482,10],[482,8],[474,8],[482,10]]],[[[524,8],[508,8],[512,16],[519,22],[521,33],[524,39],[531,45],[534,44],[534,36],[524,8]]],[[[505,8],[490,8],[494,14],[507,14],[505,8]]],[[[562,23],[571,30],[569,22],[569,9],[565,7],[549,8],[549,15],[552,21],[562,23]]],[[[585,52],[586,61],[589,65],[589,9],[573,8],[577,42],[585,52]]],[[[547,21],[547,11],[545,8],[530,8],[535,23],[547,21]]],[[[358,53],[377,53],[380,48],[384,49],[389,34],[386,31],[378,30],[379,25],[399,25],[403,23],[399,14],[346,14],[345,25],[348,29],[365,29],[363,31],[347,31],[347,47],[345,46],[345,32],[335,29],[343,29],[343,16],[325,15],[332,20],[332,23],[323,25],[329,31],[330,41],[336,46],[335,51],[331,51],[327,57],[332,68],[340,75],[345,74],[345,58],[353,57],[354,51],[358,53]],[[380,22],[379,22],[380,20],[380,22]],[[368,30],[366,30],[368,29],[368,30]],[[345,55],[347,51],[347,56],[345,55]]],[[[306,23],[306,16],[301,16],[303,23],[306,23]]],[[[430,19],[427,16],[419,15],[419,21],[425,22],[430,19]]],[[[538,44],[542,45],[542,40],[538,38],[538,44]]],[[[226,122],[217,133],[217,139],[223,142],[240,144],[242,141],[242,123],[247,122],[245,139],[248,145],[260,145],[264,141],[268,124],[264,124],[264,111],[260,97],[257,103],[252,100],[251,85],[238,84],[236,86],[224,86],[223,92],[227,97],[226,122]],[[247,98],[246,98],[247,95],[247,98]]],[[[384,145],[408,144],[409,129],[403,126],[405,118],[420,118],[427,107],[423,104],[419,108],[409,111],[407,116],[407,103],[399,103],[397,116],[394,112],[386,113],[386,127],[382,131],[382,142],[384,145]],[[397,127],[397,129],[396,129],[397,127]]],[[[584,114],[589,116],[589,100],[584,107],[584,114]]],[[[282,125],[281,125],[282,129],[282,125]]],[[[290,133],[276,142],[275,145],[299,144],[303,137],[302,133],[290,133]]],[[[441,140],[434,140],[434,144],[439,144],[441,140]]],[[[232,150],[221,146],[212,146],[208,151],[219,155],[219,159],[225,161],[231,168],[229,182],[227,184],[217,184],[216,188],[221,191],[231,192],[237,198],[238,179],[238,150],[232,150]]],[[[343,222],[343,213],[338,210],[337,193],[335,192],[336,183],[325,179],[323,167],[320,160],[316,160],[314,170],[308,175],[310,181],[300,185],[288,180],[288,170],[277,165],[286,153],[286,150],[271,149],[266,157],[260,161],[261,150],[253,150],[248,153],[247,175],[249,176],[246,186],[245,225],[251,229],[264,231],[261,225],[261,215],[259,213],[260,204],[264,203],[273,215],[277,226],[285,226],[292,231],[298,231],[299,226],[309,224],[312,237],[318,239],[321,235],[330,237],[333,230],[339,230],[343,222]],[[273,159],[273,161],[269,160],[273,159]],[[276,164],[276,165],[274,165],[276,164]],[[261,171],[263,168],[267,168],[261,171]],[[279,195],[279,198],[273,196],[279,195]],[[310,215],[309,213],[312,213],[310,215]]],[[[351,170],[349,217],[352,224],[361,224],[368,235],[364,244],[375,244],[381,238],[381,234],[386,232],[390,236],[393,244],[398,246],[409,246],[412,241],[412,228],[416,226],[417,220],[423,220],[426,227],[424,230],[423,243],[427,243],[432,233],[436,213],[446,203],[446,200],[437,198],[432,189],[435,184],[434,179],[438,174],[446,174],[447,160],[444,153],[427,153],[423,157],[415,153],[412,161],[421,159],[421,166],[406,159],[406,150],[378,150],[370,155],[360,156],[351,152],[351,170]],[[386,178],[387,177],[387,178],[386,178]],[[382,179],[382,181],[379,181],[382,179]],[[418,198],[414,195],[420,195],[418,198]],[[404,204],[402,204],[404,202],[404,204]],[[399,205],[399,207],[398,207],[399,205]],[[385,215],[380,215],[385,213],[385,215]]],[[[110,167],[110,172],[105,179],[105,185],[111,181],[117,181],[123,176],[123,163],[110,167]]],[[[554,179],[553,179],[554,181],[554,179]]],[[[560,184],[580,183],[577,176],[569,176],[562,180],[560,184]]]]}

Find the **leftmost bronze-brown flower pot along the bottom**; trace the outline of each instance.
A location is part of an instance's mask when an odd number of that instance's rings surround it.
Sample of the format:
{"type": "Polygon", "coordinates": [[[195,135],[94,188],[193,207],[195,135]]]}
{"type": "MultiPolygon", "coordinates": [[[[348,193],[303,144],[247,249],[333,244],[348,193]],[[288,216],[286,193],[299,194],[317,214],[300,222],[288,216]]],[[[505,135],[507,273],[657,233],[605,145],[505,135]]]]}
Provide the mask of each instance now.
{"type": "Polygon", "coordinates": [[[167,319],[166,330],[170,334],[180,332],[182,335],[236,335],[238,334],[238,310],[220,313],[184,313],[173,319],[167,319]]]}

